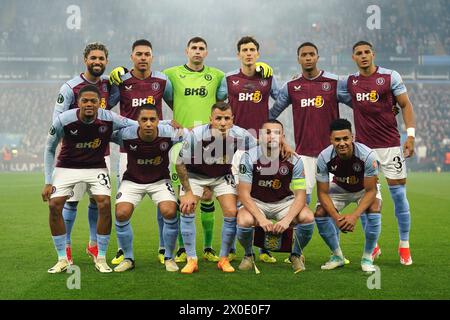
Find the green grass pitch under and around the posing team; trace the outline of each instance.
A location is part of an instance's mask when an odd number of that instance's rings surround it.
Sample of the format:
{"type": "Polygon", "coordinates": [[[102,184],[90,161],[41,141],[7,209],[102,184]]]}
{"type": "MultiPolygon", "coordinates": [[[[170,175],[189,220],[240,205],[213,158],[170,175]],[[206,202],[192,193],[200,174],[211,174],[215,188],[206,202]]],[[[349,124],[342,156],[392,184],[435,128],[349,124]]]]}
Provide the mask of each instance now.
{"type": "MultiPolygon", "coordinates": [[[[193,275],[168,273],[157,261],[157,225],[154,206],[146,198],[134,213],[136,268],[131,272],[100,274],[85,254],[88,240],[87,199],[79,205],[72,233],[73,258],[81,270],[81,289],[69,290],[69,274],[47,273],[56,261],[48,226],[48,207],[41,200],[39,173],[0,174],[0,299],[449,299],[450,298],[450,174],[411,173],[408,197],[412,212],[411,248],[414,264],[400,265],[398,233],[392,200],[383,181],[384,206],[379,240],[382,256],[381,288],[369,290],[360,270],[363,249],[361,225],[341,235],[350,265],[322,271],[329,251],[317,228],[305,250],[305,272],[294,274],[275,254],[273,265],[257,263],[261,274],[236,271],[223,274],[211,262],[199,262],[193,275]]],[[[314,200],[315,201],[315,200],[314,200]]],[[[346,210],[348,212],[348,209],[346,210]]],[[[199,219],[197,219],[199,220],[199,219]]],[[[216,216],[214,247],[220,248],[222,218],[216,216]]],[[[200,257],[201,226],[197,224],[200,257]]],[[[113,228],[108,261],[116,250],[113,228]]],[[[238,244],[237,267],[242,258],[238,244]]]]}

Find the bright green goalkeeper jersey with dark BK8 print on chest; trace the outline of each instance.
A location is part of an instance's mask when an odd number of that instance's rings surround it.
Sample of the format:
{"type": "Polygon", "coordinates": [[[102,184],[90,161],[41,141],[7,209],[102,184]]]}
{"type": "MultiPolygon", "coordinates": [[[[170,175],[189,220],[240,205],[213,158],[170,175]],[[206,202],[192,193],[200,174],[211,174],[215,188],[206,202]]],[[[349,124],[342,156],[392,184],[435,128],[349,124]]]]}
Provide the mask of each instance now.
{"type": "Polygon", "coordinates": [[[204,66],[193,71],[183,65],[163,72],[173,87],[173,119],[185,128],[209,123],[212,105],[227,97],[219,90],[224,77],[219,69],[204,66]]]}

